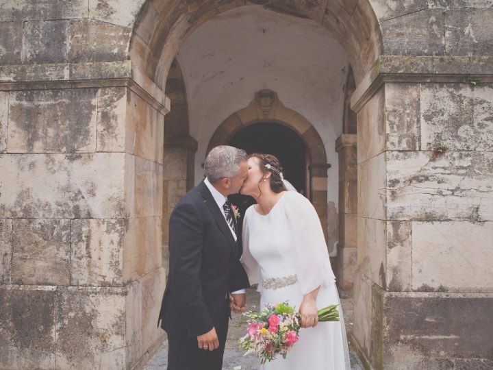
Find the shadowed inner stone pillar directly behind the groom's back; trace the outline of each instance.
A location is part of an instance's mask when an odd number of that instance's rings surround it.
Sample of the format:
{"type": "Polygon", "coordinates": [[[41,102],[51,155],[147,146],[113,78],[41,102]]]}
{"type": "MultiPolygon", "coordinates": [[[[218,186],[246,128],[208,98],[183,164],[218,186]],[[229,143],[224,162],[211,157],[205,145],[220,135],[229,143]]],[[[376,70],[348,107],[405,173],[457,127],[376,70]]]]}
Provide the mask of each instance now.
{"type": "Polygon", "coordinates": [[[168,268],[168,226],[178,201],[195,185],[194,164],[197,140],[192,136],[165,138],[162,209],[162,266],[168,268]]]}

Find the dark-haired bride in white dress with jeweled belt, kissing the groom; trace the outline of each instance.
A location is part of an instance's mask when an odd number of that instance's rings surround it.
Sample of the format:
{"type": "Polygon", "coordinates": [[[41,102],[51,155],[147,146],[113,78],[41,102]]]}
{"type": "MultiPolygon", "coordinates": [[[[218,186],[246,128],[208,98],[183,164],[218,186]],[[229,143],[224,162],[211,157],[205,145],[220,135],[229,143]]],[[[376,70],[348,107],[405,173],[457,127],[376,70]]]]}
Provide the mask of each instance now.
{"type": "Polygon", "coordinates": [[[250,283],[258,283],[261,308],[288,301],[301,313],[302,327],[286,359],[261,369],[349,370],[342,311],[340,321],[317,320],[318,308],[340,304],[318,215],[303,195],[287,190],[277,158],[255,153],[248,164],[241,193],[257,204],[244,215],[241,262],[250,283]]]}

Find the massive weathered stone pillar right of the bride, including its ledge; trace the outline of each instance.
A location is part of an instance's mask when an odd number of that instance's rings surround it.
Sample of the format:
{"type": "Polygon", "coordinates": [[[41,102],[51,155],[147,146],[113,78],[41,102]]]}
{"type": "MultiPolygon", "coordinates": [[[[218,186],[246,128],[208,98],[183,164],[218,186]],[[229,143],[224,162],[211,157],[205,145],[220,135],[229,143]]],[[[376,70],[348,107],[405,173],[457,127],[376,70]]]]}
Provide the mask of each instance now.
{"type": "Polygon", "coordinates": [[[492,66],[385,56],[353,95],[353,341],[368,368],[493,366],[492,66]]]}

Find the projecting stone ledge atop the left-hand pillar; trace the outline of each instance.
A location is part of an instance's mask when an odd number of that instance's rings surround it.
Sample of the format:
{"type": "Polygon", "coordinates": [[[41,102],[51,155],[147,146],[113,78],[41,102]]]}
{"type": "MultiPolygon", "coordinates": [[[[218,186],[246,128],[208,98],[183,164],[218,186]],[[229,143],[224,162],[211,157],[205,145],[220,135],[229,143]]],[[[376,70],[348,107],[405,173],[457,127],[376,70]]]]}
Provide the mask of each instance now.
{"type": "Polygon", "coordinates": [[[0,91],[122,86],[130,88],[163,115],[170,111],[170,99],[130,60],[0,65],[0,91]]]}

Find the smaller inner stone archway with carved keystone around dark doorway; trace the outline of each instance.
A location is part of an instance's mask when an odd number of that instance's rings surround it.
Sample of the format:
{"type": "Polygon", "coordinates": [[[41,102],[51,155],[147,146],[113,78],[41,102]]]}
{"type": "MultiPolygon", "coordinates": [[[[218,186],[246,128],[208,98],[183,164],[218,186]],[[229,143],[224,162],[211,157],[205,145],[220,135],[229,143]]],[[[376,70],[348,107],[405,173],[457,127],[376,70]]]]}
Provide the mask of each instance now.
{"type": "MultiPolygon", "coordinates": [[[[262,122],[276,122],[290,127],[305,143],[307,151],[307,197],[317,211],[327,235],[327,154],[322,138],[313,125],[301,114],[281,103],[277,93],[263,89],[255,93],[246,108],[231,114],[219,125],[212,135],[207,152],[217,145],[229,143],[229,140],[244,127],[262,122]]],[[[337,236],[332,236],[332,238],[337,236]]]]}

